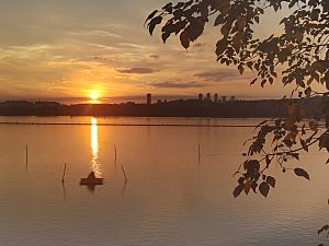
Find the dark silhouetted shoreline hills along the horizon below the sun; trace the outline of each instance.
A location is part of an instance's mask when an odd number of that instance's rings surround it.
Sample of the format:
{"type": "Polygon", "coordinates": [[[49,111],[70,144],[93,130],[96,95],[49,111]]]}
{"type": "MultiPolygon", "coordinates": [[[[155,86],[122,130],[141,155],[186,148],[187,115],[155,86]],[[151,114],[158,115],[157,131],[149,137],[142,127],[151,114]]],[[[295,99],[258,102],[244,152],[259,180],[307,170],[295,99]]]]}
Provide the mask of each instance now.
{"type": "MultiPolygon", "coordinates": [[[[316,104],[320,98],[294,99],[307,116],[320,116],[316,104]]],[[[291,101],[262,99],[227,103],[180,99],[157,104],[76,104],[56,102],[8,101],[0,103],[1,116],[136,116],[136,117],[218,117],[268,118],[286,116],[291,101]]]]}

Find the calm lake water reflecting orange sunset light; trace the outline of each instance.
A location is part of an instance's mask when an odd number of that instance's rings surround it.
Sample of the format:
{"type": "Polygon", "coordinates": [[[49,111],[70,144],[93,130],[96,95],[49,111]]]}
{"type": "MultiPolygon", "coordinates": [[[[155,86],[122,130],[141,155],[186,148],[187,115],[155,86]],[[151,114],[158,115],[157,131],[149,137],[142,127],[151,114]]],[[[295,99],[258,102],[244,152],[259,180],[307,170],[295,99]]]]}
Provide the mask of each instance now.
{"type": "Polygon", "coordinates": [[[242,143],[253,129],[204,125],[257,125],[259,119],[0,117],[0,121],[91,124],[0,125],[1,246],[304,246],[324,242],[317,230],[329,222],[325,152],[313,150],[302,156],[310,181],[273,167],[277,185],[268,199],[253,194],[232,198],[232,174],[243,161],[242,143]],[[105,179],[94,191],[79,186],[91,169],[105,179]]]}

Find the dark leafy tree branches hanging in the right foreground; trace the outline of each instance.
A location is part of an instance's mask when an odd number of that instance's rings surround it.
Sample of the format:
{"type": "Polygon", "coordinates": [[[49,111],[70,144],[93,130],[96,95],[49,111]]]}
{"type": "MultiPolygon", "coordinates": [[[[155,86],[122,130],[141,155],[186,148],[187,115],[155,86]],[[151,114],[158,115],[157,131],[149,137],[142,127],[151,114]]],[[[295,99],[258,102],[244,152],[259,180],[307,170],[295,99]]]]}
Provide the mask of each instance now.
{"type": "MultiPolygon", "coordinates": [[[[219,30],[215,54],[218,62],[232,66],[242,74],[251,70],[256,78],[250,84],[261,86],[281,80],[283,85],[294,84],[291,98],[285,102],[287,117],[265,120],[250,140],[246,161],[235,176],[238,185],[234,197],[250,190],[268,197],[275,187],[271,167],[279,165],[283,173],[292,172],[310,179],[307,171],[287,167],[290,160],[299,160],[300,152],[313,145],[329,152],[329,1],[327,0],[186,0],[169,2],[155,10],[145,25],[150,35],[161,26],[163,43],[173,35],[189,49],[208,25],[219,30]],[[283,8],[291,13],[281,20],[281,34],[259,39],[256,24],[270,9],[283,8]],[[281,75],[279,75],[281,73],[281,75]],[[314,86],[319,84],[322,91],[314,86]],[[319,115],[306,115],[303,98],[320,97],[319,115]],[[298,99],[299,98],[299,99],[298,99]],[[326,127],[319,126],[320,118],[326,127]]],[[[249,141],[248,141],[249,142],[249,141]]],[[[329,159],[327,161],[329,163],[329,159]]],[[[329,231],[325,225],[319,234],[329,231]]]]}

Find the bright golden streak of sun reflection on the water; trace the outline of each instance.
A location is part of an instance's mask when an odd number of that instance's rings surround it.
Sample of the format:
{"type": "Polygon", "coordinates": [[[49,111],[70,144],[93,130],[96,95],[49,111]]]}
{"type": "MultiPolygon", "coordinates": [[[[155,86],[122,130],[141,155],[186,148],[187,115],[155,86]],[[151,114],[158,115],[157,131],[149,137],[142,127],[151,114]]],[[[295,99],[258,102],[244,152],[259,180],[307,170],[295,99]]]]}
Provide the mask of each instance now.
{"type": "Polygon", "coordinates": [[[98,119],[91,118],[91,169],[95,173],[98,177],[102,176],[101,164],[99,162],[99,130],[98,130],[98,119]]]}

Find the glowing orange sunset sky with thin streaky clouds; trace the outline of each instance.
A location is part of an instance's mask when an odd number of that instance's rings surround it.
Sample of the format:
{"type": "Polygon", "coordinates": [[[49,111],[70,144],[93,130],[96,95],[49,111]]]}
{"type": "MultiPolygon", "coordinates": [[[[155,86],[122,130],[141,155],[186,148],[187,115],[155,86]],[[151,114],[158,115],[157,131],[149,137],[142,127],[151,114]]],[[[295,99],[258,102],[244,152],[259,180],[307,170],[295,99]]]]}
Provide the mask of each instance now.
{"type": "MultiPolygon", "coordinates": [[[[281,97],[290,90],[249,86],[251,74],[220,67],[214,54],[219,31],[186,52],[171,38],[151,37],[146,16],[166,0],[2,0],[0,99],[73,99],[98,93],[125,99],[147,92],[162,96],[218,93],[238,97],[281,97]]],[[[273,13],[257,27],[279,32],[273,13]]]]}

